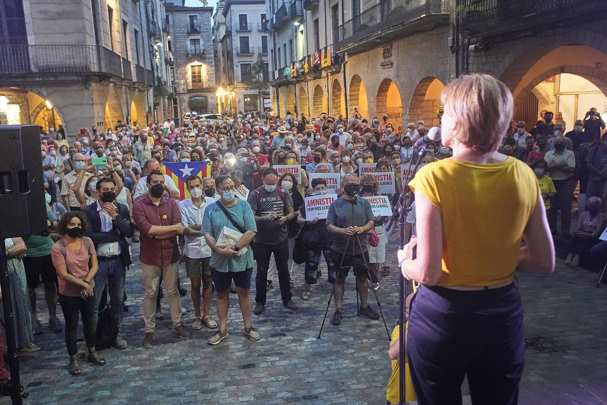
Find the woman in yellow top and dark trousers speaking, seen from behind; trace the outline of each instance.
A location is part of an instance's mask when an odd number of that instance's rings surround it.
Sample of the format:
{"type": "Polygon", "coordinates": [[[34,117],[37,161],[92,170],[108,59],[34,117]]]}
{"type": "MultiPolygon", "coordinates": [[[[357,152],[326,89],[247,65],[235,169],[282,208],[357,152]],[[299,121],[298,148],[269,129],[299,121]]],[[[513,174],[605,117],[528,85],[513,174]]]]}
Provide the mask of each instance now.
{"type": "Polygon", "coordinates": [[[469,75],[446,86],[441,103],[453,157],[409,183],[417,237],[398,252],[402,273],[422,284],[407,335],[413,386],[419,405],[458,404],[467,375],[472,403],[516,404],[525,347],[513,279],[554,270],[546,209],[529,166],[497,152],[513,115],[510,90],[469,75]]]}

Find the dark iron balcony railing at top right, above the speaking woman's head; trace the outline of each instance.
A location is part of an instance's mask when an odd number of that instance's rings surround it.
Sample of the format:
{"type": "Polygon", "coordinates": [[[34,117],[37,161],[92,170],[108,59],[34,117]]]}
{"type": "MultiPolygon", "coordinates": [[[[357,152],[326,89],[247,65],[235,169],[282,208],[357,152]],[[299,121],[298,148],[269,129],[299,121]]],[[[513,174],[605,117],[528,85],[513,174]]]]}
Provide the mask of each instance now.
{"type": "MultiPolygon", "coordinates": [[[[605,0],[463,0],[461,2],[461,30],[464,33],[486,29],[495,34],[496,24],[503,22],[551,23],[558,19],[571,21],[575,14],[598,13],[605,9],[605,0]],[[538,20],[538,18],[540,18],[538,20]]],[[[507,24],[506,24],[507,25],[507,24]]],[[[510,24],[512,28],[512,24],[510,24]]]]}

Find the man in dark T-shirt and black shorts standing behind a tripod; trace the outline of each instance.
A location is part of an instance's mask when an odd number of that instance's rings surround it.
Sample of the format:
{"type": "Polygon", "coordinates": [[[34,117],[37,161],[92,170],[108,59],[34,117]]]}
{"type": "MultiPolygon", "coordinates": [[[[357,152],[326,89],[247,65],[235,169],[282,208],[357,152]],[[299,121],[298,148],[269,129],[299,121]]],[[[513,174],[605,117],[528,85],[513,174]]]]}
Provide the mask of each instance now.
{"type": "Polygon", "coordinates": [[[344,282],[354,269],[356,288],[361,296],[361,315],[369,319],[379,319],[367,303],[367,279],[369,262],[367,232],[375,228],[375,215],[371,205],[358,196],[360,186],[358,176],[346,173],[342,181],[344,196],[335,200],[327,214],[327,231],[333,234],[331,258],[334,263],[342,263],[334,283],[335,313],[331,324],[339,325],[342,321],[342,300],[344,299],[344,282]],[[357,240],[358,239],[358,240],[357,240]],[[343,262],[342,262],[343,257],[343,262]]]}

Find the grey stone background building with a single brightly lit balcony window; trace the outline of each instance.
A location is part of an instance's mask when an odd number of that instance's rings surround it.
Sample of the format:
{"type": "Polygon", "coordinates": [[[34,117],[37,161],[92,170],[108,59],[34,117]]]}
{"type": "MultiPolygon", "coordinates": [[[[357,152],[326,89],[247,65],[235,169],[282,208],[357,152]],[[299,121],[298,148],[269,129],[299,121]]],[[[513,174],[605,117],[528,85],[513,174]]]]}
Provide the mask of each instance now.
{"type": "Polygon", "coordinates": [[[174,87],[174,117],[215,112],[212,7],[166,4],[169,20],[169,77],[174,87]]]}

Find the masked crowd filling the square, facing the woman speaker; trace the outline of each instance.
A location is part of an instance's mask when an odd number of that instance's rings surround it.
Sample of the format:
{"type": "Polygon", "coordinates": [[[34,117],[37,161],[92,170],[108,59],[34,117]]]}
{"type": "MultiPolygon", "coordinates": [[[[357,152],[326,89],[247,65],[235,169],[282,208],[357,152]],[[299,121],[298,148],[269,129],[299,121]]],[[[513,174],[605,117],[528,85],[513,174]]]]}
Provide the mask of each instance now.
{"type": "MultiPolygon", "coordinates": [[[[513,121],[499,150],[534,169],[554,234],[560,211],[562,236],[571,237],[571,202],[575,185],[580,183],[580,221],[567,260],[576,267],[605,228],[600,211],[607,200],[607,135],[600,138],[605,122],[595,109],[585,120],[576,121],[572,131],[564,133],[565,123],[560,121],[560,113],[554,119],[552,112],[545,112],[543,121],[529,132],[526,123],[513,121]]],[[[374,163],[376,172],[394,172],[395,192],[385,195],[395,203],[404,180],[401,166],[417,163],[414,145],[428,129],[423,120],[402,128],[386,114],[367,121],[355,110],[349,119],[327,114],[297,117],[290,112],[285,118],[260,117],[247,112],[222,122],[175,124],[167,117],[144,128],[136,122],[118,121],[101,132],[95,126],[81,129],[71,141],[63,128],[41,130],[48,229],[24,239],[7,239],[9,268],[15,274],[11,282],[19,350],[39,350],[34,335],[44,333],[36,310],[40,281],[50,330],[65,329],[72,374],[83,371],[80,358],[94,364],[105,362],[95,351],[95,327],[106,301],[118,322],[114,345],[127,347],[129,337],[121,327],[127,310],[124,286],[132,263],[131,245],[137,242],[145,288],[142,345],[146,348],[154,344],[155,322],[164,319],[162,284],[180,338],[188,339],[190,328],[206,327],[217,330],[209,344],[219,344],[228,336],[229,294],[235,293],[243,333],[251,341],[259,340],[251,312],[262,315],[265,311],[266,296],[276,277],[284,307],[297,311],[292,294],[296,240],[305,251],[302,301],[310,299],[313,285],[322,276],[319,264],[323,256],[328,282],[335,291],[331,323],[341,324],[348,270],[337,267],[344,260],[344,267],[353,268],[356,277],[361,315],[378,319],[367,294],[371,290],[381,293],[379,276],[390,274],[385,250],[392,228],[386,229],[386,217],[375,216],[362,198],[380,194],[376,177],[359,173],[359,168],[362,163],[374,163]],[[94,158],[106,160],[99,164],[94,158]],[[190,197],[179,200],[177,185],[163,174],[162,166],[205,161],[211,165],[211,176],[189,176],[185,183],[190,197]],[[299,175],[274,168],[282,165],[300,166],[299,175]],[[326,219],[306,215],[305,197],[329,192],[326,180],[309,180],[314,173],[339,173],[338,198],[326,219]],[[348,194],[353,184],[358,185],[358,194],[348,194]],[[236,196],[240,185],[250,191],[246,201],[236,196]],[[353,199],[357,203],[350,209],[353,199]],[[233,245],[219,242],[225,240],[226,228],[238,235],[233,245]],[[371,234],[379,239],[375,246],[368,243],[371,234]],[[361,236],[360,245],[348,245],[349,237],[355,235],[361,236]],[[180,301],[187,294],[180,282],[181,263],[192,286],[194,316],[188,321],[180,301]],[[254,268],[253,307],[250,285],[254,268]],[[217,293],[215,319],[213,290],[217,293]],[[57,302],[65,325],[56,315],[57,302]],[[80,349],[76,347],[79,313],[86,340],[80,349]]],[[[450,156],[452,149],[437,141],[419,163],[450,156]]],[[[412,205],[407,226],[415,234],[415,201],[410,199],[407,205],[412,205]]],[[[597,257],[604,263],[607,244],[597,247],[602,249],[596,249],[597,257]]]]}

